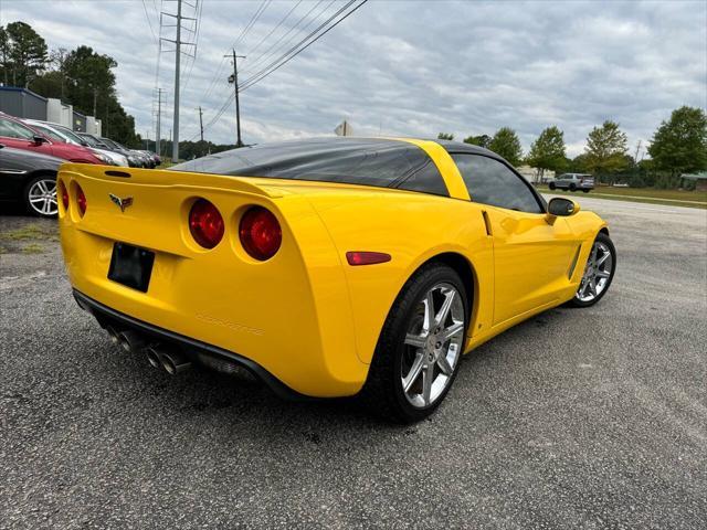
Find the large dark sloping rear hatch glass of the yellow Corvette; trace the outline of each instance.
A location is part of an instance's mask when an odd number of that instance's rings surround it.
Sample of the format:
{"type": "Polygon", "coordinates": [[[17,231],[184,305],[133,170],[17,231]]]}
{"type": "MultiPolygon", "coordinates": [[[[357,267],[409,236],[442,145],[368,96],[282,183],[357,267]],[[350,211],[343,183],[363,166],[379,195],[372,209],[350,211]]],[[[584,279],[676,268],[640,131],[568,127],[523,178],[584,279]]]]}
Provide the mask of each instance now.
{"type": "Polygon", "coordinates": [[[326,138],[265,144],[209,155],[170,170],[340,182],[449,197],[428,153],[395,140],[326,138]]]}

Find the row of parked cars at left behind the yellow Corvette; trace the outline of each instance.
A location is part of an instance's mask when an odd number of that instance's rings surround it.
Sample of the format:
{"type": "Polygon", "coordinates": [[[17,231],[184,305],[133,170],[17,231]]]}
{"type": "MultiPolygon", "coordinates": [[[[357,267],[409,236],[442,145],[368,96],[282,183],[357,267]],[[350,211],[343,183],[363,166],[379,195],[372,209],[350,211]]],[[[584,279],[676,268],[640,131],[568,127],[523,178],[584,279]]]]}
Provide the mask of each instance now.
{"type": "Polygon", "coordinates": [[[31,214],[56,215],[56,172],[66,160],[134,168],[161,163],[154,152],[109,138],[0,113],[0,202],[20,201],[31,214]]]}

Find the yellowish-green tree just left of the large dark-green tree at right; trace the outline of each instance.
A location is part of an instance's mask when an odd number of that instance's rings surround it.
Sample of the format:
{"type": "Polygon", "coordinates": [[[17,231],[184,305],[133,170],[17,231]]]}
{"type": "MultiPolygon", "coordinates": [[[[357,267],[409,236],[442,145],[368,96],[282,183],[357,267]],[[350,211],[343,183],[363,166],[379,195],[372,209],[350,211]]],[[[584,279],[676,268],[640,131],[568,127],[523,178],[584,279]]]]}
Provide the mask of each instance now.
{"type": "Polygon", "coordinates": [[[606,120],[594,127],[587,137],[587,169],[598,181],[602,174],[615,173],[630,167],[626,160],[629,138],[615,121],[606,120]]]}

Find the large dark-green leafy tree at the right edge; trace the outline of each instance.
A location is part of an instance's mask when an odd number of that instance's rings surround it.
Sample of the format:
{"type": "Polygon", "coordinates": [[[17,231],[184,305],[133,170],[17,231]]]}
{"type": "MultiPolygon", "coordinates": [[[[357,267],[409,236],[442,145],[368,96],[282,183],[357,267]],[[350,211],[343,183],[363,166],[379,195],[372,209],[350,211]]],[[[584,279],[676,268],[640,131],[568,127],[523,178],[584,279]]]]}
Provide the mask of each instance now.
{"type": "Polygon", "coordinates": [[[683,106],[662,121],[653,135],[648,153],[655,169],[672,176],[707,169],[707,115],[696,107],[683,106]]]}

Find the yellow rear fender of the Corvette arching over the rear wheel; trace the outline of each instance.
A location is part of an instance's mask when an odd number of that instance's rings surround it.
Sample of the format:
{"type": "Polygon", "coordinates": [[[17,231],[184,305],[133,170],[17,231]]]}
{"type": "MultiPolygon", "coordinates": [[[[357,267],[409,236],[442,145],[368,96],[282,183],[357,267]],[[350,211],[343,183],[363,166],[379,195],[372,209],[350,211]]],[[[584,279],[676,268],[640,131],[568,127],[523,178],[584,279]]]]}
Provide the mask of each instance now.
{"type": "MultiPolygon", "coordinates": [[[[371,362],[395,298],[425,262],[440,254],[460,254],[472,265],[478,285],[493,286],[493,242],[481,210],[468,201],[399,190],[318,194],[310,200],[342,263],[361,362],[371,362]],[[351,266],[346,262],[350,251],[382,252],[392,258],[351,266]]],[[[490,325],[487,309],[493,308],[493,289],[477,289],[472,327],[481,331],[490,325]]]]}

